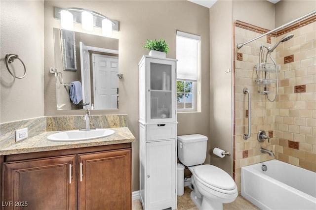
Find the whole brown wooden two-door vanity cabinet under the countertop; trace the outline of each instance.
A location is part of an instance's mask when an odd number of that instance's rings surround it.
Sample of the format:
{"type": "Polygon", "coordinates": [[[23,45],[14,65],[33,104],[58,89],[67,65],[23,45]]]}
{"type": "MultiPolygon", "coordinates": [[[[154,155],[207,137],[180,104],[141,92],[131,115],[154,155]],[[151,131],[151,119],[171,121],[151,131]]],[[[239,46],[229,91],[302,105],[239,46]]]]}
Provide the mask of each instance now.
{"type": "Polygon", "coordinates": [[[1,210],[131,210],[131,144],[1,156],[1,210]]]}

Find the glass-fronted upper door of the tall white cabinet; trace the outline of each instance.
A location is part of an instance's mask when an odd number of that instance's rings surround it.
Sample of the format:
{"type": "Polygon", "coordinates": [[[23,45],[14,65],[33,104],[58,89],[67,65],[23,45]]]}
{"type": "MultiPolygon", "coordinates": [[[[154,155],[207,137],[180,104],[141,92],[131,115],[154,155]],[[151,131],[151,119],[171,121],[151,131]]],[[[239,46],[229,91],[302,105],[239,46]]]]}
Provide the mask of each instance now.
{"type": "Polygon", "coordinates": [[[146,62],[147,123],[176,121],[176,62],[148,58],[146,62]]]}

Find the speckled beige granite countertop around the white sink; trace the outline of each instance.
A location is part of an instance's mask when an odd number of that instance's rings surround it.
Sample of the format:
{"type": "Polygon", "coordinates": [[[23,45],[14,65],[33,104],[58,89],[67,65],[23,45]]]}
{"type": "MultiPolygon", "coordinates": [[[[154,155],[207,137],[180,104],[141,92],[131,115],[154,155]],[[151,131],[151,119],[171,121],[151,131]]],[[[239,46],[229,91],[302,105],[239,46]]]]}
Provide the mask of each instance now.
{"type": "Polygon", "coordinates": [[[0,155],[20,154],[38,151],[64,150],[135,142],[135,137],[127,127],[117,127],[109,129],[115,131],[115,133],[111,136],[75,142],[48,141],[47,136],[53,133],[57,133],[57,131],[43,132],[35,137],[27,138],[7,148],[1,148],[0,155]]]}

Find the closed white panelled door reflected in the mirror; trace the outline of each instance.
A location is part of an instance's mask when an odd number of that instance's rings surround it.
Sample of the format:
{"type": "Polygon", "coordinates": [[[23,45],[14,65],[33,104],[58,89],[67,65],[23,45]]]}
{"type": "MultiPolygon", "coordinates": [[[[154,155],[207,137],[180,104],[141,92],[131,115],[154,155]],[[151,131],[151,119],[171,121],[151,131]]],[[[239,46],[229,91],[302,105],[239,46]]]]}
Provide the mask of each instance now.
{"type": "Polygon", "coordinates": [[[118,57],[92,54],[96,109],[118,109],[118,57]]]}

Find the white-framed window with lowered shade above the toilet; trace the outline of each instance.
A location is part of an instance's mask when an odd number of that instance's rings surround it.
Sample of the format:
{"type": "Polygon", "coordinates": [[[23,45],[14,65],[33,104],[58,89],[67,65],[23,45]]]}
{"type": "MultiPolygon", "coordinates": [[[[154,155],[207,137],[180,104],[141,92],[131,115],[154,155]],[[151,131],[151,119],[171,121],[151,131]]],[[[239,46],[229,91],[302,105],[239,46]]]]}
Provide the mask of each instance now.
{"type": "Polygon", "coordinates": [[[177,31],[177,111],[197,111],[200,36],[177,31]]]}

